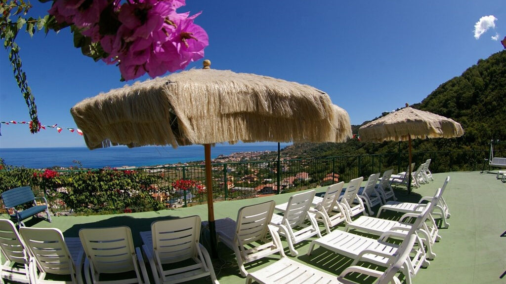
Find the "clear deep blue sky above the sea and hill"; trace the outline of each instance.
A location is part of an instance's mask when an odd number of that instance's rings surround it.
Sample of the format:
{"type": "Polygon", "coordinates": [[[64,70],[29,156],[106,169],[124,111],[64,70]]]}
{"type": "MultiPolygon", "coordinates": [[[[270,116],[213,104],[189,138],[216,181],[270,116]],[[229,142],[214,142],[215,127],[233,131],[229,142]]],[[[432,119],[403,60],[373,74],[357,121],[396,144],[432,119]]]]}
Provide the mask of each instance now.
{"type": "MultiPolygon", "coordinates": [[[[32,16],[51,7],[38,1],[32,5],[32,16]]],[[[501,51],[500,40],[506,36],[504,0],[187,0],[178,10],[185,11],[202,11],[195,23],[209,35],[205,58],[212,68],[312,85],[347,110],[352,124],[406,102],[421,102],[479,59],[501,51]],[[490,15],[495,26],[476,38],[475,24],[490,15]]],[[[75,127],[69,110],[82,99],[124,85],[119,70],[82,56],[69,29],[33,38],[20,33],[17,42],[39,120],[63,130],[30,134],[27,125],[2,124],[0,148],[84,147],[82,136],[66,129],[75,127]]],[[[189,68],[201,66],[202,60],[189,68]]],[[[1,49],[0,121],[10,120],[29,117],[7,52],[1,49]]]]}

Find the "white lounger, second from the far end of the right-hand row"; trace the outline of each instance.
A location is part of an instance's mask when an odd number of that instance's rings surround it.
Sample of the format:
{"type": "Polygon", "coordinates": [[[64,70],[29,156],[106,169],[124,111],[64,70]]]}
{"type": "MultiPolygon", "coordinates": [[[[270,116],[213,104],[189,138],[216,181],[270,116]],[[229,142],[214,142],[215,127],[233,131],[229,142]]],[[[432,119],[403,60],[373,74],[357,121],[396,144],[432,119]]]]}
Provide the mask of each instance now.
{"type": "MultiPolygon", "coordinates": [[[[425,214],[425,221],[420,222],[420,226],[417,228],[416,232],[418,236],[424,241],[427,247],[427,257],[429,259],[433,259],[436,257],[436,254],[433,252],[433,246],[436,241],[441,239],[438,232],[438,226],[434,218],[432,218],[431,213],[435,208],[435,204],[438,202],[438,198],[441,196],[441,188],[438,188],[436,194],[434,195],[434,199],[430,204],[429,209],[425,214]],[[430,226],[427,223],[430,223],[430,226]]],[[[355,229],[375,235],[381,235],[387,231],[395,230],[398,232],[407,232],[411,229],[412,223],[408,222],[410,218],[416,218],[417,213],[405,213],[402,215],[399,221],[394,220],[386,220],[377,217],[371,216],[360,216],[356,220],[352,222],[348,222],[346,224],[345,230],[349,231],[350,229],[355,229]]]]}

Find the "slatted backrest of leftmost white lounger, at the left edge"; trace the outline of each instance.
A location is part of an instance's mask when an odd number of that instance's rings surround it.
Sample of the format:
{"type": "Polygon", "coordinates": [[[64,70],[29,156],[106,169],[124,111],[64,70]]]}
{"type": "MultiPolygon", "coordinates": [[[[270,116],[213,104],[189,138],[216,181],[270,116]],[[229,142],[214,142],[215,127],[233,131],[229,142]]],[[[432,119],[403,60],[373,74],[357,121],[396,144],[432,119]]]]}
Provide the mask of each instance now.
{"type": "Polygon", "coordinates": [[[25,244],[11,220],[0,219],[0,251],[11,262],[25,264],[28,255],[25,244]]]}

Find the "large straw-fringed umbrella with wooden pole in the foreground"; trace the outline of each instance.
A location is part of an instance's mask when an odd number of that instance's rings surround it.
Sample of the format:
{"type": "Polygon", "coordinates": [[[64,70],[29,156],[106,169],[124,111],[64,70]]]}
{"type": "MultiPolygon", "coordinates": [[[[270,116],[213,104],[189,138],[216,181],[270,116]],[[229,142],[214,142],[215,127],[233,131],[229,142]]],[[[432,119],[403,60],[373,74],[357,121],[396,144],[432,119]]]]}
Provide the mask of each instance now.
{"type": "Polygon", "coordinates": [[[212,254],[216,233],[210,146],[236,141],[340,142],[348,113],[314,87],[254,74],[192,69],[101,93],[71,110],[90,149],[204,145],[212,254]]]}

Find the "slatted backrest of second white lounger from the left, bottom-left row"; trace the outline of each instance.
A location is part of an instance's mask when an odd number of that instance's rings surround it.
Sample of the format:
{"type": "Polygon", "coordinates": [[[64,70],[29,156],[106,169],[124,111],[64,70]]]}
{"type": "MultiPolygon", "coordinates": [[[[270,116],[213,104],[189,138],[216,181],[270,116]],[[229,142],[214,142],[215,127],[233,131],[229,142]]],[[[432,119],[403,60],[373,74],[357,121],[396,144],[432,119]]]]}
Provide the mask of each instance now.
{"type": "Polygon", "coordinates": [[[59,229],[21,227],[19,233],[42,272],[74,276],[75,264],[59,229]]]}

